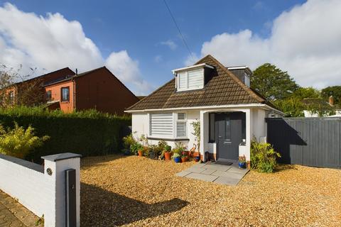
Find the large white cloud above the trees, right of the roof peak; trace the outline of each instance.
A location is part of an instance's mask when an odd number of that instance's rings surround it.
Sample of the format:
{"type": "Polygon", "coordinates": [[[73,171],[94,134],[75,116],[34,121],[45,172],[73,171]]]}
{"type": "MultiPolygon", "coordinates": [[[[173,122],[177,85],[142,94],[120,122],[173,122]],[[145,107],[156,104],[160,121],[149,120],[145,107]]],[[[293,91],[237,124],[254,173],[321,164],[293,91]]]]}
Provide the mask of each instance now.
{"type": "Polygon", "coordinates": [[[341,1],[310,0],[272,21],[269,38],[249,30],[222,33],[203,43],[224,65],[258,67],[270,62],[288,71],[301,86],[340,84],[341,1]]]}

